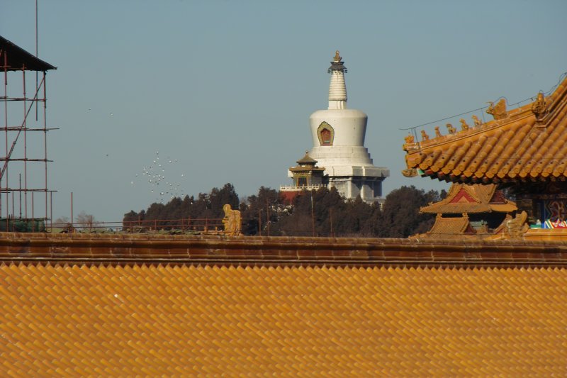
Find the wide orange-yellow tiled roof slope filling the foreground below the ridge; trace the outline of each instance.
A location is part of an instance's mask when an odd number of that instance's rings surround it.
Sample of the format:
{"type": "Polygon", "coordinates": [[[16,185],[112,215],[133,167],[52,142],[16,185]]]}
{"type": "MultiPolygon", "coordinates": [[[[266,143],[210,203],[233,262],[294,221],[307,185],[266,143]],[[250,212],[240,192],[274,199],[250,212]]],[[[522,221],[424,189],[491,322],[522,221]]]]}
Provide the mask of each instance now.
{"type": "Polygon", "coordinates": [[[567,375],[567,269],[0,265],[2,376],[567,375]]]}

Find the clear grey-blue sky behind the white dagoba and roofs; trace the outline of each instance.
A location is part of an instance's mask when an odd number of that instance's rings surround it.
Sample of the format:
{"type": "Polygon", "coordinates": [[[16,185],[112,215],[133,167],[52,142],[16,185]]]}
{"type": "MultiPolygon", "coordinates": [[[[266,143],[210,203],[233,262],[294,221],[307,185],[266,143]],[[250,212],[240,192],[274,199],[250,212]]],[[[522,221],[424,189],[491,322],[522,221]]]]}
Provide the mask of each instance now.
{"type": "MultiPolygon", "coordinates": [[[[0,0],[0,35],[30,52],[34,9],[0,0]]],[[[391,169],[385,194],[448,188],[401,175],[400,128],[551,89],[567,71],[566,14],[566,1],[39,0],[39,56],[57,67],[53,216],[70,215],[71,192],[74,213],[120,221],[168,191],[291,184],[337,49],[349,107],[369,116],[366,147],[391,169]]]]}

